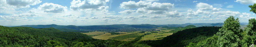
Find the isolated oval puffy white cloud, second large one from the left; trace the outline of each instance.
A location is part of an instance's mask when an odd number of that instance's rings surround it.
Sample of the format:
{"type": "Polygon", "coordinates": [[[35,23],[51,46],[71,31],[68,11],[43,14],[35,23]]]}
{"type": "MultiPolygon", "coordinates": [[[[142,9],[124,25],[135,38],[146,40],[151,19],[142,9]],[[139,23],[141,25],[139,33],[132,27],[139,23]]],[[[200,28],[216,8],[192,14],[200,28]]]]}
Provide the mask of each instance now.
{"type": "Polygon", "coordinates": [[[37,9],[44,10],[44,12],[49,12],[49,13],[64,13],[67,11],[66,6],[64,7],[54,3],[44,3],[40,5],[37,9]]]}

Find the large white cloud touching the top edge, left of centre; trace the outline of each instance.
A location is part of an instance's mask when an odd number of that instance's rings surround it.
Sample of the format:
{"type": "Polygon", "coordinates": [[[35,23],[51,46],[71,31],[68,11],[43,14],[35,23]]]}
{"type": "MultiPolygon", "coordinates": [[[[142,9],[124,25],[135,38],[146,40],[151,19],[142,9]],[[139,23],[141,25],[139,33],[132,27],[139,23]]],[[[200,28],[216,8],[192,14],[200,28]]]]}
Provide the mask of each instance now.
{"type": "Polygon", "coordinates": [[[70,10],[80,11],[94,11],[94,10],[106,10],[108,6],[105,6],[109,0],[73,0],[70,5],[70,10]]]}

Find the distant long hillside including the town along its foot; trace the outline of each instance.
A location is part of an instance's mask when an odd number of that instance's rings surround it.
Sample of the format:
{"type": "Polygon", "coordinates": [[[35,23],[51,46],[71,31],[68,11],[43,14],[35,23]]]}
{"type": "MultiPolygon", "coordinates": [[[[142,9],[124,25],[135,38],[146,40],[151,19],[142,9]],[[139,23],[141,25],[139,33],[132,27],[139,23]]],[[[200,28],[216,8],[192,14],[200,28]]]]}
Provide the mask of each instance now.
{"type": "Polygon", "coordinates": [[[56,25],[56,24],[50,24],[50,25],[21,25],[16,27],[32,27],[32,28],[56,28],[56,29],[72,29],[72,30],[80,30],[84,32],[89,31],[129,31],[134,30],[135,31],[141,31],[141,30],[151,30],[152,28],[157,28],[160,26],[152,25],[152,24],[134,24],[134,25],[128,25],[128,24],[113,24],[113,25],[92,25],[92,26],[75,26],[75,25],[56,25]]]}

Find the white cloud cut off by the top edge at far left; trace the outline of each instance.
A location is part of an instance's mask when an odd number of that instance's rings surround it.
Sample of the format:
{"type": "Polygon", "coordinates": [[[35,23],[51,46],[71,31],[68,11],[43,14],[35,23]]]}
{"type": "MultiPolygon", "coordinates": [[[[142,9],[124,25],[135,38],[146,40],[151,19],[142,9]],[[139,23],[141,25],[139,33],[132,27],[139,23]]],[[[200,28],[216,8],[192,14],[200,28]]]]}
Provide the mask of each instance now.
{"type": "Polygon", "coordinates": [[[29,8],[30,5],[41,3],[40,0],[6,0],[7,4],[16,6],[17,8],[29,8]]]}

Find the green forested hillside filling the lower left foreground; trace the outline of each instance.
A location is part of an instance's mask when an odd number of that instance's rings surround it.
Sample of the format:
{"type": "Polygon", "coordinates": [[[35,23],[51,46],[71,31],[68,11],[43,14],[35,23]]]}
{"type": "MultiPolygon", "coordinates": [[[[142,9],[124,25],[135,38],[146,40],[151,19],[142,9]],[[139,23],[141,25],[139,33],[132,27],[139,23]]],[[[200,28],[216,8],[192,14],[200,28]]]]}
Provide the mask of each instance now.
{"type": "Polygon", "coordinates": [[[55,28],[0,26],[0,47],[145,47],[145,44],[116,40],[99,40],[55,28]]]}

